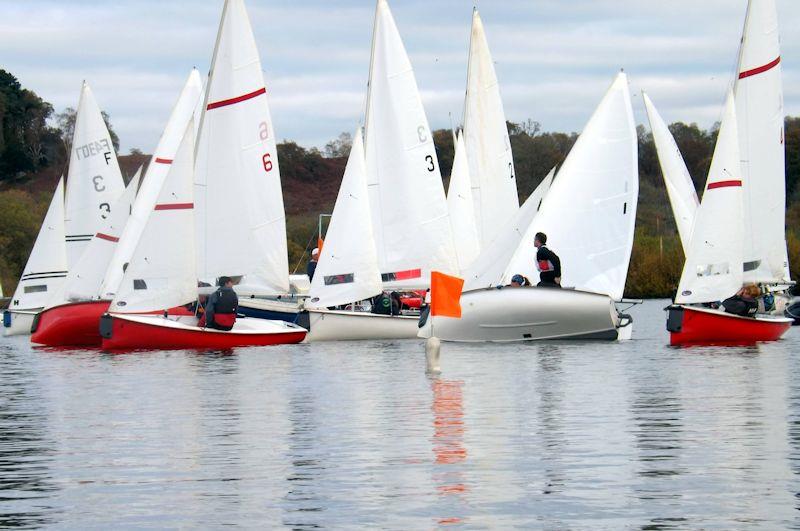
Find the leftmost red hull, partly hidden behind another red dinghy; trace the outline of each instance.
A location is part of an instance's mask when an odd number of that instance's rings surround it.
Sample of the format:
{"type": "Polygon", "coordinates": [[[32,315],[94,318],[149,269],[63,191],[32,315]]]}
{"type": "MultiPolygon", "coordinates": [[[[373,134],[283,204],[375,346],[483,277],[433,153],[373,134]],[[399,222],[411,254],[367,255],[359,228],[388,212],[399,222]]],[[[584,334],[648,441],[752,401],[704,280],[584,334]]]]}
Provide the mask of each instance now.
{"type": "Polygon", "coordinates": [[[111,301],[62,304],[43,310],[31,334],[31,343],[48,347],[99,347],[100,316],[111,301]]]}

